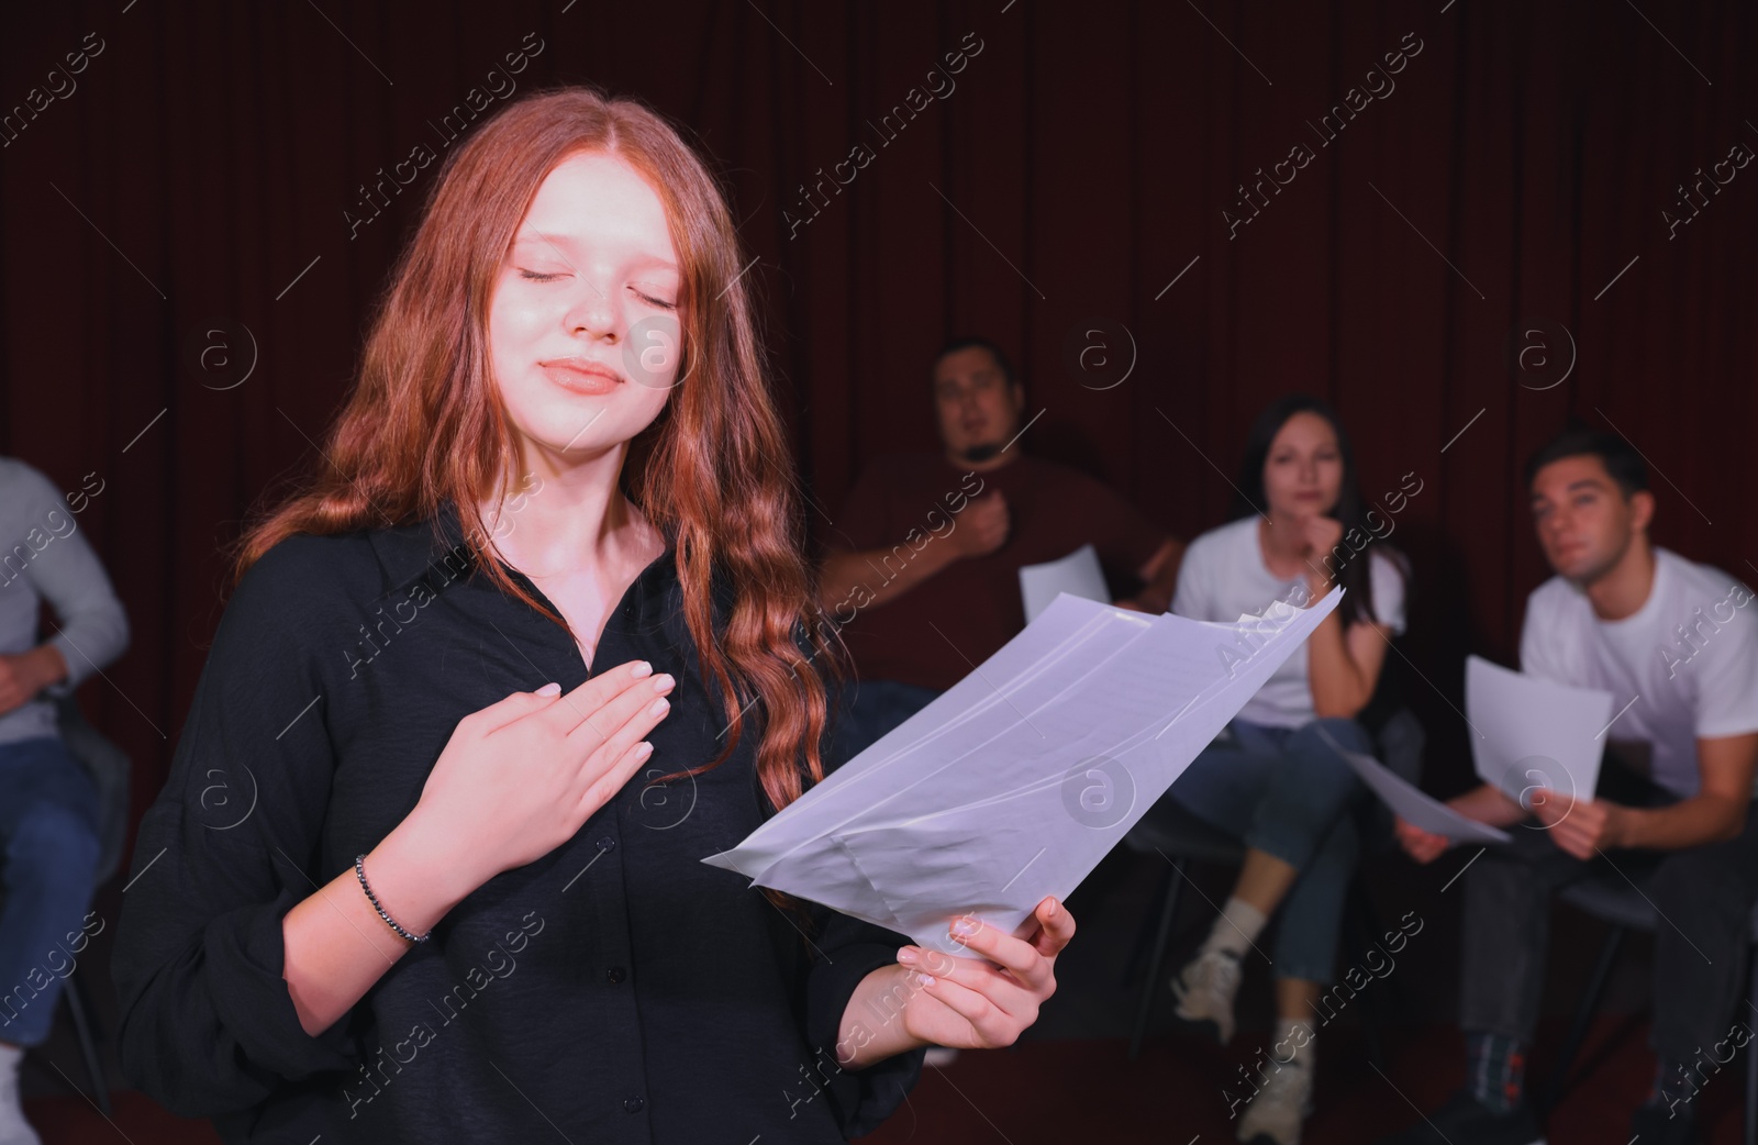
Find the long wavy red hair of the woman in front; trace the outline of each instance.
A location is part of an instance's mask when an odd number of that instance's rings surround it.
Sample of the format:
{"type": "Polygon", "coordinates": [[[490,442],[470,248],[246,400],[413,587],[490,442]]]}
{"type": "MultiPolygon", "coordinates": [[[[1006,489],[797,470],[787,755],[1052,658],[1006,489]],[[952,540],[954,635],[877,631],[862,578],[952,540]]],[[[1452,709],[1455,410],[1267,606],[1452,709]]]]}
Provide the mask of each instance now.
{"type": "MultiPolygon", "coordinates": [[[[675,543],[684,617],[728,733],[712,760],[654,783],[717,767],[754,719],[758,776],[770,802],[786,807],[805,776],[823,779],[826,688],[814,661],[826,654],[830,674],[842,668],[802,558],[793,456],[726,197],[679,132],[638,100],[578,86],[540,91],[503,107],[447,157],[322,443],[327,464],[246,529],[234,584],[294,533],[434,519],[438,536],[447,500],[468,543],[485,552],[492,542],[478,500],[503,489],[519,457],[490,371],[489,303],[538,186],[580,151],[615,155],[647,178],[682,262],[682,382],[636,438],[622,484],[675,543]],[[716,582],[731,602],[723,617],[716,582]]],[[[568,628],[496,559],[478,568],[568,628]]]]}

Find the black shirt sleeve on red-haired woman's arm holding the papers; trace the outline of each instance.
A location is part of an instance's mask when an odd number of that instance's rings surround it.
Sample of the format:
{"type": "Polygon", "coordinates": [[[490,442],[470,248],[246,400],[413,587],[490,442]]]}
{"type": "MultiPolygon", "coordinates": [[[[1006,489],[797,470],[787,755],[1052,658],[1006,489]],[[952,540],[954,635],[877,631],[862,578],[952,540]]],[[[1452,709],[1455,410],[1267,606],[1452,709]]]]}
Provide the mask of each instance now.
{"type": "MultiPolygon", "coordinates": [[[[810,904],[817,922],[816,957],[805,990],[805,1038],[821,1062],[837,1061],[837,1036],[854,987],[867,974],[897,962],[898,946],[909,937],[853,918],[840,911],[810,904]]],[[[825,1080],[825,1096],[837,1113],[844,1138],[858,1138],[877,1129],[921,1076],[926,1047],[883,1057],[861,1069],[837,1069],[825,1080]]]]}

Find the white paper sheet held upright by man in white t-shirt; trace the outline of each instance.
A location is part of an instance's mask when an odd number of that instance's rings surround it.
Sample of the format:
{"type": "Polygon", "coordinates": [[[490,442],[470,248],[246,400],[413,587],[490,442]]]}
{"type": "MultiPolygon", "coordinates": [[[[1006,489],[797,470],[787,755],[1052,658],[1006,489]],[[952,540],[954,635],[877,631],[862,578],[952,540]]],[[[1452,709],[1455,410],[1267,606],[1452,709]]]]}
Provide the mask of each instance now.
{"type": "Polygon", "coordinates": [[[1570,688],[1468,656],[1464,716],[1471,723],[1477,777],[1514,802],[1531,807],[1538,790],[1593,799],[1612,693],[1570,688]]]}

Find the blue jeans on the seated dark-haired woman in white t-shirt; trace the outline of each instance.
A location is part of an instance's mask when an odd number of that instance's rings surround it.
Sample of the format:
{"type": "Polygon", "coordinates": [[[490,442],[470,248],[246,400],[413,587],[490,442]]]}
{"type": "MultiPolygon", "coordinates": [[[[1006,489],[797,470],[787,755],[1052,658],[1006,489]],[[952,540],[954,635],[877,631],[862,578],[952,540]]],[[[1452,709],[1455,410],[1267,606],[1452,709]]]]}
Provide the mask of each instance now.
{"type": "Polygon", "coordinates": [[[1271,974],[1329,985],[1338,922],[1361,855],[1350,806],[1366,790],[1329,744],[1373,753],[1354,719],[1273,728],[1234,719],[1185,769],[1166,799],[1283,860],[1299,876],[1282,901],[1271,974]]]}

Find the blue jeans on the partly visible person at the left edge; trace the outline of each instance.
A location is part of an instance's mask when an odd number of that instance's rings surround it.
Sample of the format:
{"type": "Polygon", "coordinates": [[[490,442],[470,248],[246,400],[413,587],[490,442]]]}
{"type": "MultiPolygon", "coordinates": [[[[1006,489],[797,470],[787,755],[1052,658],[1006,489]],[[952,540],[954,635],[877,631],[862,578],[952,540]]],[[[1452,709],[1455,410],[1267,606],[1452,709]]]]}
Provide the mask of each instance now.
{"type": "Polygon", "coordinates": [[[98,867],[98,793],[60,737],[0,744],[0,1041],[49,1036],[98,867]]]}

